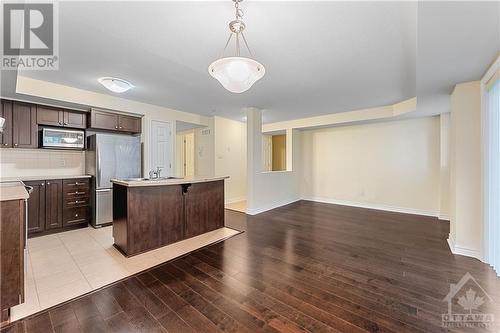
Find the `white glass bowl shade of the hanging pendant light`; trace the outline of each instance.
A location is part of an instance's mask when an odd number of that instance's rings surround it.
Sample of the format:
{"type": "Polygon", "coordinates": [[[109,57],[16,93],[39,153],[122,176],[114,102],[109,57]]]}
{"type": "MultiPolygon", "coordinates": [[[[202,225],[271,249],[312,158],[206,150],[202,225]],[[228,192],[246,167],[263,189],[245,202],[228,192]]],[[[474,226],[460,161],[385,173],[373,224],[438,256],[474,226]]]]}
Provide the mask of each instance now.
{"type": "Polygon", "coordinates": [[[245,57],[221,58],[214,61],[208,71],[232,93],[247,91],[266,73],[262,64],[245,57]]]}

